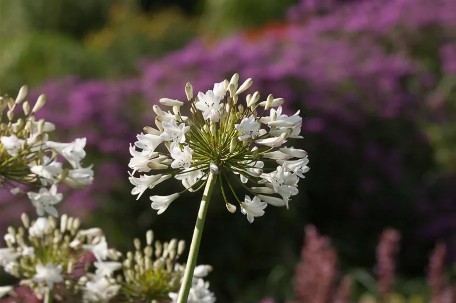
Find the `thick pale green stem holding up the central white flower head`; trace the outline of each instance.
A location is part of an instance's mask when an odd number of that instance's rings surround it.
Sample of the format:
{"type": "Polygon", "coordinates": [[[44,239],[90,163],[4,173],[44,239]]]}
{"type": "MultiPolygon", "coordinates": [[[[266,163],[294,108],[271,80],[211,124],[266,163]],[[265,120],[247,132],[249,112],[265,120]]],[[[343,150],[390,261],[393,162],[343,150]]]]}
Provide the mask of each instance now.
{"type": "Polygon", "coordinates": [[[207,177],[206,187],[204,188],[203,198],[201,199],[200,209],[198,211],[198,218],[196,218],[195,230],[193,231],[192,243],[190,244],[190,251],[188,253],[187,265],[185,266],[184,278],[182,281],[181,289],[177,303],[187,303],[188,294],[192,287],[193,272],[195,271],[196,259],[200,249],[201,236],[203,235],[204,221],[206,220],[207,209],[209,200],[211,199],[212,190],[216,184],[217,176],[209,173],[207,177]]]}

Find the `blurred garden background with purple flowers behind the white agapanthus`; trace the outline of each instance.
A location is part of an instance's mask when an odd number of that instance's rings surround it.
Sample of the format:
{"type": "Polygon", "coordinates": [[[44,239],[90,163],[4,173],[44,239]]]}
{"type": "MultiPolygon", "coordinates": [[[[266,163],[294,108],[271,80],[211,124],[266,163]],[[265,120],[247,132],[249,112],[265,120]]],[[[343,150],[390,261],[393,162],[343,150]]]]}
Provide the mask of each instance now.
{"type": "MultiPolygon", "coordinates": [[[[235,72],[301,111],[310,171],[254,224],[213,199],[198,262],[217,302],[350,302],[332,301],[348,284],[356,302],[456,302],[454,0],[0,0],[1,92],[46,93],[55,139],[87,137],[95,181],[59,211],[119,250],[148,229],[190,242],[200,196],[136,201],[129,143],[160,98],[235,72]]],[[[0,195],[2,231],[33,214],[0,195]]]]}

